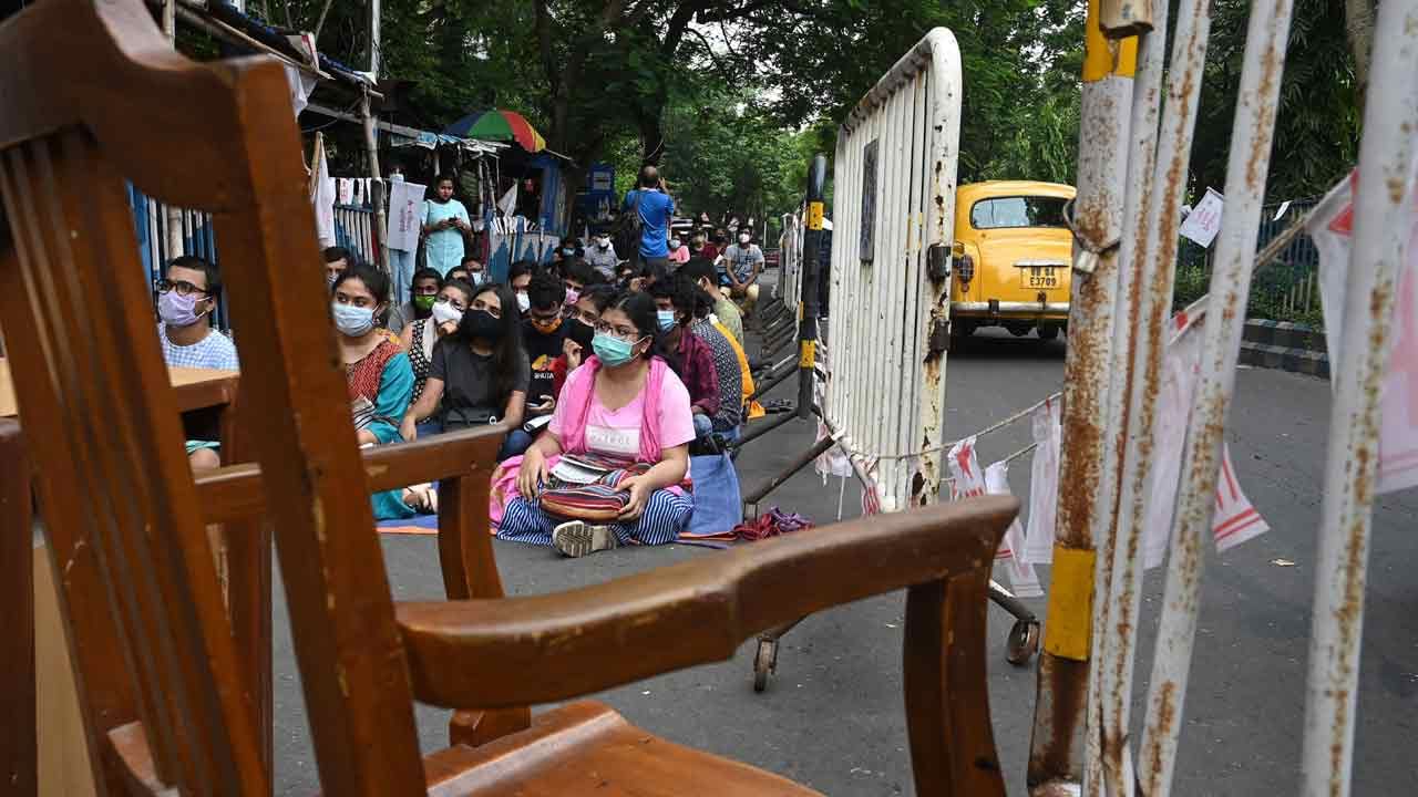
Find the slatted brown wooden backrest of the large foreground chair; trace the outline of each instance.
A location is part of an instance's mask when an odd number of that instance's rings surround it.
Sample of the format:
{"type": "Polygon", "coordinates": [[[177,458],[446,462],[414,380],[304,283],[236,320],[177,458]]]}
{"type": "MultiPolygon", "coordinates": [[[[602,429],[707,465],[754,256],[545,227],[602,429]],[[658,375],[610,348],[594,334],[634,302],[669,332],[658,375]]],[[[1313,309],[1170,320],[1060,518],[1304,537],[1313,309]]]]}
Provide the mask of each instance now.
{"type": "Polygon", "coordinates": [[[299,146],[281,67],[193,64],[140,0],[0,24],[0,325],[109,793],[269,791],[125,179],[216,221],[322,784],[423,790],[299,146]]]}

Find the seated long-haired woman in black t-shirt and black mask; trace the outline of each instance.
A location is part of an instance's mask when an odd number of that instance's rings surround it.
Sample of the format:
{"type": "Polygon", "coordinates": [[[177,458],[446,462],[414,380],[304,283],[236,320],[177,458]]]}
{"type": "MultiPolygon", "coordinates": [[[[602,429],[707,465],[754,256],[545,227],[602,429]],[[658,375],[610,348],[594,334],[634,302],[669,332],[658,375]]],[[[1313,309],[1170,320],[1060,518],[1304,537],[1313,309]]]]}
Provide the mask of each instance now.
{"type": "Polygon", "coordinates": [[[444,431],[522,424],[532,366],[522,352],[522,319],[516,308],[516,298],[505,285],[472,291],[457,332],[434,346],[424,391],[400,425],[406,440],[417,437],[418,423],[440,413],[440,403],[444,431]]]}

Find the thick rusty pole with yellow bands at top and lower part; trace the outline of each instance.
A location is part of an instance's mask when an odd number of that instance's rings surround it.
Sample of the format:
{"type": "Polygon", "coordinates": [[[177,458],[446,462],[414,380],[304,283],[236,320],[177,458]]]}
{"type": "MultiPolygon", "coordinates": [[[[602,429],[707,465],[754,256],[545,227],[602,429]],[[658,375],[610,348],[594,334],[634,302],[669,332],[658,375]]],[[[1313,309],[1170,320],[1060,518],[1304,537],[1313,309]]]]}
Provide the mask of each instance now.
{"type": "Polygon", "coordinates": [[[1116,241],[1122,234],[1136,43],[1107,40],[1099,26],[1098,0],[1090,0],[1085,47],[1059,464],[1066,484],[1085,488],[1059,495],[1054,580],[1029,749],[1028,783],[1035,796],[1076,793],[1081,781],[1096,567],[1093,540],[1096,529],[1110,525],[1113,506],[1112,484],[1103,469],[1115,445],[1102,408],[1112,391],[1116,241]]]}

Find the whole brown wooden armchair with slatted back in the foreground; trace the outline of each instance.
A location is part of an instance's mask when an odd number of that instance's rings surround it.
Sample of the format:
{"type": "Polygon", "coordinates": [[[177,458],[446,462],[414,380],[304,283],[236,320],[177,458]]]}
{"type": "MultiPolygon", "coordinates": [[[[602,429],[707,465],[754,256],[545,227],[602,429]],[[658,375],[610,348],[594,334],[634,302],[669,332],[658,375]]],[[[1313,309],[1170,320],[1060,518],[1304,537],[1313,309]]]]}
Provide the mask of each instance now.
{"type": "MultiPolygon", "coordinates": [[[[1003,794],[984,630],[1012,499],[872,518],[519,598],[491,597],[485,520],[469,522],[440,546],[445,581],[465,580],[452,597],[467,600],[396,607],[367,489],[396,479],[380,468],[408,475],[415,459],[485,474],[499,431],[362,459],[332,325],[311,303],[323,282],[298,147],[278,65],[191,64],[140,0],[44,0],[0,26],[0,325],[26,438],[43,441],[30,448],[41,516],[109,794],[269,794],[252,678],[204,529],[208,515],[238,506],[269,508],[328,794],[807,794],[596,703],[526,729],[519,718],[532,703],[725,659],[757,631],[903,587],[917,793],[1003,794]],[[211,211],[227,264],[242,423],[259,468],[224,471],[201,491],[139,277],[125,176],[211,211]],[[217,512],[220,495],[228,502],[217,512]],[[481,746],[425,760],[415,699],[506,722],[481,746]]],[[[471,476],[459,484],[454,501],[485,496],[471,476]]]]}

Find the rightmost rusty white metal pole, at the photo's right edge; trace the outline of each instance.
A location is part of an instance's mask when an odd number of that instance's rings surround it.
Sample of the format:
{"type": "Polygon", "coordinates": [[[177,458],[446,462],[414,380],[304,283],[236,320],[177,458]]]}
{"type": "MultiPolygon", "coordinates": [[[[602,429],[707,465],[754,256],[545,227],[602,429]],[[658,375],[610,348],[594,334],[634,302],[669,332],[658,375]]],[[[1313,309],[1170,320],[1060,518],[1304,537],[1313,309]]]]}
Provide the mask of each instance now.
{"type": "Polygon", "coordinates": [[[1414,244],[1409,235],[1418,193],[1418,0],[1380,3],[1374,30],[1314,567],[1302,747],[1305,797],[1346,797],[1350,790],[1368,535],[1378,484],[1380,397],[1395,277],[1407,267],[1405,257],[1414,257],[1404,248],[1414,244]]]}

